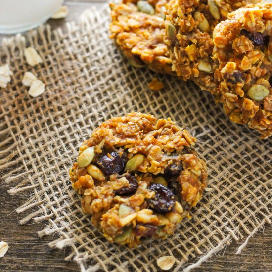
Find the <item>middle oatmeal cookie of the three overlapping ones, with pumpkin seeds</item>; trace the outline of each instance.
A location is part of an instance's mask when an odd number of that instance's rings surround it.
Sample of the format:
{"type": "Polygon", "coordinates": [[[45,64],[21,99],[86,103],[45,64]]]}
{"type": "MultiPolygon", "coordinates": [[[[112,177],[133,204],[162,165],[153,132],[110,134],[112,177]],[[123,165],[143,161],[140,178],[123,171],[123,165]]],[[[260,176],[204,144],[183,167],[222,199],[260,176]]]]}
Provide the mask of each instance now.
{"type": "Polygon", "coordinates": [[[213,30],[227,19],[228,12],[253,1],[260,0],[171,0],[167,4],[165,43],[173,71],[214,93],[217,63],[211,59],[213,30]]]}

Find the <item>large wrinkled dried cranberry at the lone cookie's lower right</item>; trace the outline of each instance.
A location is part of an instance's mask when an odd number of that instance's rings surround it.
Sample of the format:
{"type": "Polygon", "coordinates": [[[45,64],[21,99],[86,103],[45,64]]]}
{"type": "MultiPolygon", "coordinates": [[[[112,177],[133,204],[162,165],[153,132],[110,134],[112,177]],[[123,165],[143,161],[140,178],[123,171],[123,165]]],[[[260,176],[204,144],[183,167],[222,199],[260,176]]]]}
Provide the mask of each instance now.
{"type": "Polygon", "coordinates": [[[156,183],[151,184],[148,189],[155,192],[155,196],[147,200],[151,209],[161,214],[166,214],[173,209],[175,197],[170,189],[156,183]]]}

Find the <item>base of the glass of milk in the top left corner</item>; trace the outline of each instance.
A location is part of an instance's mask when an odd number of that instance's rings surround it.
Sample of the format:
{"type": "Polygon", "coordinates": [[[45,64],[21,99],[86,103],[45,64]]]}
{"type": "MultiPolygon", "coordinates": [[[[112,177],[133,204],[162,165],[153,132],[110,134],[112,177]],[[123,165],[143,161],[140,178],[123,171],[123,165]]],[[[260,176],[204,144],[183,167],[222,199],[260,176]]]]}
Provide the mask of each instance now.
{"type": "Polygon", "coordinates": [[[0,0],[0,33],[17,33],[49,19],[64,0],[0,0]]]}

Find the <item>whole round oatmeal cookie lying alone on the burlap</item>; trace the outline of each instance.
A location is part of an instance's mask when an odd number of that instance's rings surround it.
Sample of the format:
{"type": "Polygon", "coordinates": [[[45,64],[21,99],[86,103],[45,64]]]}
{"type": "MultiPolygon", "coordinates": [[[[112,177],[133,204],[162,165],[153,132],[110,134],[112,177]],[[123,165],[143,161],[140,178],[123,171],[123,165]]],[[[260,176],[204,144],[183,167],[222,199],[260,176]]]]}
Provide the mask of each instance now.
{"type": "Polygon", "coordinates": [[[112,243],[166,238],[201,199],[207,167],[196,139],[168,119],[132,112],[102,123],[70,169],[92,223],[112,243]]]}

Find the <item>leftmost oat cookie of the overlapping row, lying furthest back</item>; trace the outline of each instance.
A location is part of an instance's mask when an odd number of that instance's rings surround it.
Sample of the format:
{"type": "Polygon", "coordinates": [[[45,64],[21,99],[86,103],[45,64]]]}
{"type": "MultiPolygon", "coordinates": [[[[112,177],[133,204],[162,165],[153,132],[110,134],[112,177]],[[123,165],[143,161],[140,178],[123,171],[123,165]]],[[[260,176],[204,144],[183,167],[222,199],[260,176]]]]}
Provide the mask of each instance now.
{"type": "Polygon", "coordinates": [[[110,4],[110,38],[115,39],[131,65],[147,65],[158,73],[173,73],[169,52],[163,41],[167,1],[123,0],[118,5],[110,4]]]}

